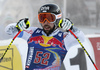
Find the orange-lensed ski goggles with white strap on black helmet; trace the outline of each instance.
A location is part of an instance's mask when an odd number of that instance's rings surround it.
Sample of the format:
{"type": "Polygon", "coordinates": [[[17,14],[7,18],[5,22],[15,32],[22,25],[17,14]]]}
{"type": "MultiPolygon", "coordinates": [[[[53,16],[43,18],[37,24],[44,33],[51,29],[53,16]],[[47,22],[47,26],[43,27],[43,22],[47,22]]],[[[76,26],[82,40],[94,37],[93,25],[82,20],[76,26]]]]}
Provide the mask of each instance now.
{"type": "Polygon", "coordinates": [[[49,23],[54,23],[56,19],[61,18],[61,14],[55,15],[53,13],[39,13],[38,19],[40,23],[44,23],[45,21],[48,21],[49,23]]]}

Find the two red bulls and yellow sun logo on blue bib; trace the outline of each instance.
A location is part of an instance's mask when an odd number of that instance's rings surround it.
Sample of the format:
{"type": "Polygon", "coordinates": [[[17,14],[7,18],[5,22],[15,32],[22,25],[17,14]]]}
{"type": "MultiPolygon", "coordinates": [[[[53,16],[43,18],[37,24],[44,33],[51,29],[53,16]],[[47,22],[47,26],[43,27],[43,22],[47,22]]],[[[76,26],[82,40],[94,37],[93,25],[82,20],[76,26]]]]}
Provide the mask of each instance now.
{"type": "Polygon", "coordinates": [[[58,39],[54,38],[53,36],[47,37],[42,35],[42,36],[31,37],[29,40],[30,41],[28,43],[35,41],[36,44],[40,44],[43,47],[49,47],[51,45],[55,47],[56,45],[58,45],[60,48],[64,49],[63,43],[60,42],[58,39]]]}

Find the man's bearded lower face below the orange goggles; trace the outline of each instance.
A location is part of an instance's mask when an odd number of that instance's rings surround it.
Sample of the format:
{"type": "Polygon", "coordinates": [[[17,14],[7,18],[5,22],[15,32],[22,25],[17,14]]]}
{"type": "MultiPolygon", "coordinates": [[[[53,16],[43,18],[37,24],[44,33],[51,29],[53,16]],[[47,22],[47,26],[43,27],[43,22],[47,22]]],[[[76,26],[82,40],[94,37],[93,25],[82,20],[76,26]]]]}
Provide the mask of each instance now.
{"type": "Polygon", "coordinates": [[[53,27],[54,27],[54,23],[49,23],[48,21],[45,21],[41,25],[42,25],[42,27],[44,29],[44,32],[46,34],[50,33],[50,31],[52,31],[53,30],[53,27]]]}

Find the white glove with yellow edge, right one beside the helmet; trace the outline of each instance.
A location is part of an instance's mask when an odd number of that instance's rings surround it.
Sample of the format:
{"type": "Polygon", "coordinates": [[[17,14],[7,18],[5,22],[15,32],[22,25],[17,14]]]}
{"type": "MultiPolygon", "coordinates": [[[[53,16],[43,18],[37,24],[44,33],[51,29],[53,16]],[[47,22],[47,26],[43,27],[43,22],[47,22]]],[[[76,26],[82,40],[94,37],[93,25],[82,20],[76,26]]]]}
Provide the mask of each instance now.
{"type": "Polygon", "coordinates": [[[68,18],[64,18],[59,21],[58,26],[63,30],[68,31],[69,29],[72,29],[73,24],[68,18]]]}

